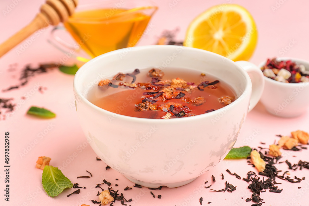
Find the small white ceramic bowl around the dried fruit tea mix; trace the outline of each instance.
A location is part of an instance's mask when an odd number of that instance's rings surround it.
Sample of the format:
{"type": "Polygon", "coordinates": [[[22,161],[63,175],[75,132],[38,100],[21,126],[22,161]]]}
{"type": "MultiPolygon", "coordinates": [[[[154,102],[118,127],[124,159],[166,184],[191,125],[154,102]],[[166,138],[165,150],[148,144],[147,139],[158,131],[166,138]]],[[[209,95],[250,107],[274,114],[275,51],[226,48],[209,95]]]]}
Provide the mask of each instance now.
{"type": "MultiPolygon", "coordinates": [[[[309,62],[295,58],[277,58],[277,60],[292,60],[297,64],[303,64],[309,70],[309,62]]],[[[259,64],[264,66],[266,61],[259,64]]],[[[266,110],[275,116],[296,117],[300,116],[309,107],[309,83],[285,83],[265,77],[265,87],[261,96],[261,103],[266,110]]]]}

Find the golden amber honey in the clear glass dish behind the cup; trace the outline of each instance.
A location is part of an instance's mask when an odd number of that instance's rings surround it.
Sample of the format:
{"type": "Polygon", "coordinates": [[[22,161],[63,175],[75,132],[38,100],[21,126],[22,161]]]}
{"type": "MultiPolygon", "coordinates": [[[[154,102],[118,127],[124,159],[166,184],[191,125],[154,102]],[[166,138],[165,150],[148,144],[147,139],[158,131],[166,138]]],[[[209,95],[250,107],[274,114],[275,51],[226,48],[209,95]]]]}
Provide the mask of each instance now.
{"type": "Polygon", "coordinates": [[[74,13],[64,27],[91,57],[133,47],[142,36],[155,6],[93,9],[74,13]]]}

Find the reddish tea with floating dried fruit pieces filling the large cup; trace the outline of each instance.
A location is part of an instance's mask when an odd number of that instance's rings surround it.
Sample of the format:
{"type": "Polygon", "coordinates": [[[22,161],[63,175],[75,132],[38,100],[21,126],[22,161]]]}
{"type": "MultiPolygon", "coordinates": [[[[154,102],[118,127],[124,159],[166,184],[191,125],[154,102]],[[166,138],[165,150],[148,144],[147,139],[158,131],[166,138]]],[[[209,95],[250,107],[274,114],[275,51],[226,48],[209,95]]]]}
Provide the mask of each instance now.
{"type": "Polygon", "coordinates": [[[105,79],[88,100],[105,110],[132,117],[170,119],[205,114],[235,100],[226,83],[194,69],[135,69],[105,79]]]}

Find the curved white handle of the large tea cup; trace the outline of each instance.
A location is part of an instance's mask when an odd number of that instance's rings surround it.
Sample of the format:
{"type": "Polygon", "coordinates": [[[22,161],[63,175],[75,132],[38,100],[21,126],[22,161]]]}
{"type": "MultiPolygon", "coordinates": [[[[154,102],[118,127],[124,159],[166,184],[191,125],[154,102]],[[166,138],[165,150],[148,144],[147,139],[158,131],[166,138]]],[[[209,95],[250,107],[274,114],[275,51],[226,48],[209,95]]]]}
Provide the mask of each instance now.
{"type": "Polygon", "coordinates": [[[256,104],[259,102],[263,90],[264,90],[264,75],[261,69],[259,69],[255,64],[248,61],[236,61],[240,67],[242,67],[248,74],[252,83],[252,95],[250,99],[249,111],[251,111],[256,104]]]}

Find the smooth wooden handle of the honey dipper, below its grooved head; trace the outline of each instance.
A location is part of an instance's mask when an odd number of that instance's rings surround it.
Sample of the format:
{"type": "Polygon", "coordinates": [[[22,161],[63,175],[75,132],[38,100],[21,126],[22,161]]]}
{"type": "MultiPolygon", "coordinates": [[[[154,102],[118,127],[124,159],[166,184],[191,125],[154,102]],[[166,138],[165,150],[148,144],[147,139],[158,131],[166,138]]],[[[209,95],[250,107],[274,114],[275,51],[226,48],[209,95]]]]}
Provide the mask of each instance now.
{"type": "Polygon", "coordinates": [[[0,57],[21,43],[23,40],[27,39],[38,29],[47,27],[48,25],[49,21],[46,16],[42,13],[37,14],[31,23],[29,23],[26,27],[23,27],[19,32],[0,44],[0,57]]]}

